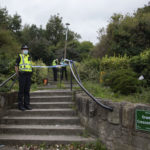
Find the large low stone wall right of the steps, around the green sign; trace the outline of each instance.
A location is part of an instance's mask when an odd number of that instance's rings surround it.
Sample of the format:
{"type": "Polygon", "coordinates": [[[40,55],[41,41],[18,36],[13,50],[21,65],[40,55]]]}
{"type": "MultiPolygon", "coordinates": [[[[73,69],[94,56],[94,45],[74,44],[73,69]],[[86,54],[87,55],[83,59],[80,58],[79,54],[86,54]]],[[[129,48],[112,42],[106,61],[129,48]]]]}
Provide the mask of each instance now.
{"type": "Polygon", "coordinates": [[[81,123],[97,135],[108,150],[150,150],[150,132],[135,129],[135,110],[150,111],[150,106],[99,99],[113,107],[111,112],[83,93],[76,93],[75,100],[81,123]]]}

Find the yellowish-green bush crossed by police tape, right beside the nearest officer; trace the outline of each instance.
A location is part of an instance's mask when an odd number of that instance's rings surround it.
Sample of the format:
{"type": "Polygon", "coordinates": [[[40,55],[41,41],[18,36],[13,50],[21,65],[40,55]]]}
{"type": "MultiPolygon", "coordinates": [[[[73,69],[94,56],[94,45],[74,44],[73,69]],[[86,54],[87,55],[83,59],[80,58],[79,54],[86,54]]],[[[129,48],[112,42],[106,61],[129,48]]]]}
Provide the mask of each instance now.
{"type": "MultiPolygon", "coordinates": [[[[46,66],[41,60],[32,62],[32,65],[33,66],[46,66]]],[[[43,79],[46,78],[47,75],[48,75],[47,68],[33,68],[32,82],[41,84],[43,82],[43,79]]]]}

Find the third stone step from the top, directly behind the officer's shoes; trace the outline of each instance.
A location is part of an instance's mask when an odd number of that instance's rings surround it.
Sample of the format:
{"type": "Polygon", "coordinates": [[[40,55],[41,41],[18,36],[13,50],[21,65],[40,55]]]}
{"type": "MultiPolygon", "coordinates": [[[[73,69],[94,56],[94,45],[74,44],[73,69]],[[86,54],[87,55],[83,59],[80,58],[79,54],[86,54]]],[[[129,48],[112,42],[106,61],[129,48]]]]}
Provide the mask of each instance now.
{"type": "MultiPolygon", "coordinates": [[[[17,103],[15,103],[17,107],[17,103]]],[[[31,102],[33,109],[72,108],[73,102],[31,102]]]]}

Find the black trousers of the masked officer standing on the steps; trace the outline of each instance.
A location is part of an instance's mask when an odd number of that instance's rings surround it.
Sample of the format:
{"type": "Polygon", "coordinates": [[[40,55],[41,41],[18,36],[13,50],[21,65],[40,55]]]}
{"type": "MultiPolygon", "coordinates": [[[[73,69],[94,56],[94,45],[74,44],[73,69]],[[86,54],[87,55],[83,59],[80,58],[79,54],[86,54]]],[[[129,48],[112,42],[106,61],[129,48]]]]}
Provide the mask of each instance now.
{"type": "Polygon", "coordinates": [[[31,72],[19,72],[18,107],[30,105],[31,72]]]}

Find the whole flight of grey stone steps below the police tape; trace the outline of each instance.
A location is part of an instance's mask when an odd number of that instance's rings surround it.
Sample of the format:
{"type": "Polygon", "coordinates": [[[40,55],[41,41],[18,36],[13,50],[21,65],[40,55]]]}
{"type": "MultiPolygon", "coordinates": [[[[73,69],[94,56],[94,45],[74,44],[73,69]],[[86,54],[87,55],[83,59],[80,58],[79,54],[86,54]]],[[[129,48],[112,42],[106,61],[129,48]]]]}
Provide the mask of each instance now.
{"type": "Polygon", "coordinates": [[[92,142],[84,137],[73,109],[69,90],[41,90],[31,93],[32,110],[14,109],[0,120],[0,144],[69,144],[92,142]]]}

